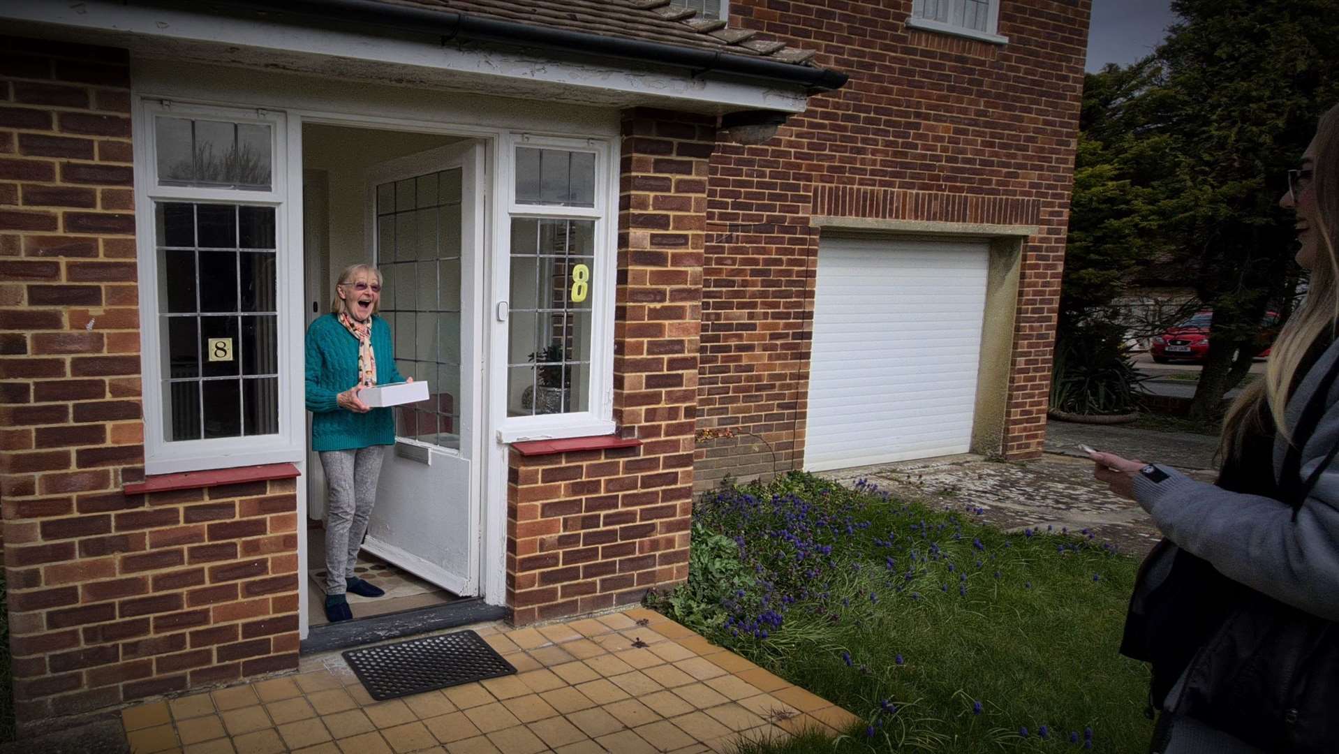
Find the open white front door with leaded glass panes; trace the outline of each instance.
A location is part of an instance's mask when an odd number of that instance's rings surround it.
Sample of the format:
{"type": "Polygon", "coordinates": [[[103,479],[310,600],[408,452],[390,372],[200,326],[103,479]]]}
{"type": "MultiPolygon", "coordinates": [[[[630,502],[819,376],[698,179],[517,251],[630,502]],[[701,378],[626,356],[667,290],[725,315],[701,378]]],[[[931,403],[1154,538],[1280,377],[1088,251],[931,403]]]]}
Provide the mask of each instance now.
{"type": "Polygon", "coordinates": [[[482,391],[483,165],[483,145],[462,142],[376,166],[367,192],[395,363],[426,382],[431,398],[395,408],[395,446],[363,548],[462,596],[479,583],[479,459],[471,455],[482,391]]]}

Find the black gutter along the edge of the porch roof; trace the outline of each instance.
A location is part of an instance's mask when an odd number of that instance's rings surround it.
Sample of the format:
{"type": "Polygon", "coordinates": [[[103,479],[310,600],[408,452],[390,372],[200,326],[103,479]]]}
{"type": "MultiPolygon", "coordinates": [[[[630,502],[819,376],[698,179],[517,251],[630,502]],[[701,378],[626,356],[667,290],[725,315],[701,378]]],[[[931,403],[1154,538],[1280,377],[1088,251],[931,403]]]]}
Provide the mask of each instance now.
{"type": "Polygon", "coordinates": [[[694,75],[720,72],[771,82],[802,86],[809,91],[841,88],[846,74],[829,68],[814,68],[794,63],[781,63],[719,50],[698,50],[660,42],[604,36],[599,33],[541,27],[430,8],[380,3],[378,0],[218,0],[201,3],[170,3],[189,9],[242,8],[266,20],[295,19],[301,25],[340,21],[360,27],[378,27],[392,32],[412,32],[439,36],[443,40],[473,39],[503,44],[542,47],[577,55],[595,55],[639,60],[661,66],[688,68],[694,75]]]}

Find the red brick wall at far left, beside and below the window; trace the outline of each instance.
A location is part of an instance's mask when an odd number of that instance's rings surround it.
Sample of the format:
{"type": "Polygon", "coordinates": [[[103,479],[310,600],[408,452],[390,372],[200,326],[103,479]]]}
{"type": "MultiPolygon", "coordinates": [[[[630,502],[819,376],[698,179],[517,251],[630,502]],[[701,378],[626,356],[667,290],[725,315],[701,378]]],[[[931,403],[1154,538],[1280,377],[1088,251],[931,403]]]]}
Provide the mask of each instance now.
{"type": "Polygon", "coordinates": [[[20,721],[296,667],[293,479],[122,492],[143,479],[126,54],[0,42],[0,530],[20,721]]]}

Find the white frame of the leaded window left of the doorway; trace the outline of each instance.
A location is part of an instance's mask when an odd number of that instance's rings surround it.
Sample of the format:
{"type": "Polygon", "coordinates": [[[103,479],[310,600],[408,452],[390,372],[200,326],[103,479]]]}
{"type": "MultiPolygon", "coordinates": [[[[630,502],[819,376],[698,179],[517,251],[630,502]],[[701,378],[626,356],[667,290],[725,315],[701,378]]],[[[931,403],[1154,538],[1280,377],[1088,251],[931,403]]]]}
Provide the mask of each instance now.
{"type": "MultiPolygon", "coordinates": [[[[171,474],[206,469],[230,469],[260,463],[303,461],[304,422],[295,419],[303,407],[303,343],[295,343],[295,317],[301,316],[303,254],[289,233],[288,212],[295,202],[288,196],[293,183],[289,175],[288,122],[284,112],[216,107],[174,102],[167,98],[137,95],[134,111],[135,165],[135,240],[139,264],[139,344],[145,421],[145,473],[171,474]],[[158,182],[157,134],[154,118],[216,119],[233,123],[264,123],[270,127],[269,190],[165,186],[158,182]],[[274,208],[274,305],[279,359],[279,433],[175,441],[163,433],[161,337],[158,321],[158,252],[154,204],[158,201],[226,202],[274,208]]],[[[299,190],[301,183],[297,183],[299,190]]],[[[300,202],[296,202],[300,205],[300,202]]],[[[300,332],[300,328],[297,329],[300,332]]]]}

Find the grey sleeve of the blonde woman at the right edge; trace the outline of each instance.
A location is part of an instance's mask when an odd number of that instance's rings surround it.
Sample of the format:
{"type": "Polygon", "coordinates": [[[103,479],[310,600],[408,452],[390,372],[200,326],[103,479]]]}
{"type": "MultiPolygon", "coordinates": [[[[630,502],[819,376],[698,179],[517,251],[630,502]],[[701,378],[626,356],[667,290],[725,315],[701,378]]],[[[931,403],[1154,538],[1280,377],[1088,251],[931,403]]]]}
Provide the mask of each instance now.
{"type": "MultiPolygon", "coordinates": [[[[1339,404],[1331,404],[1307,442],[1303,479],[1336,442],[1339,404]]],[[[1156,482],[1137,473],[1134,494],[1169,540],[1241,584],[1339,620],[1339,467],[1320,474],[1296,520],[1292,508],[1277,500],[1231,493],[1174,469],[1157,469],[1166,478],[1156,482]]]]}

